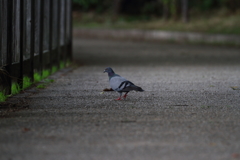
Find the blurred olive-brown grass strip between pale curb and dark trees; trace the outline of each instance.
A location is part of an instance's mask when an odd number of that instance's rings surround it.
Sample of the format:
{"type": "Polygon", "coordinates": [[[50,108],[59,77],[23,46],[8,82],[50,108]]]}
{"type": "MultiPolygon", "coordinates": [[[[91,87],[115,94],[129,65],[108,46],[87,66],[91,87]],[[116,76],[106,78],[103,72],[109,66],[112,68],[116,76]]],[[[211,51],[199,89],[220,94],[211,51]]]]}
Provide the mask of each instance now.
{"type": "Polygon", "coordinates": [[[169,19],[166,21],[161,18],[152,18],[146,21],[135,17],[129,21],[130,16],[119,16],[115,21],[109,21],[110,15],[97,15],[94,18],[85,13],[86,21],[74,21],[75,27],[81,28],[105,28],[105,29],[141,29],[141,30],[165,30],[165,31],[181,31],[181,32],[201,32],[211,34],[234,34],[240,35],[240,14],[232,14],[225,16],[222,14],[224,10],[196,15],[188,23],[181,23],[181,20],[169,19]],[[102,23],[98,23],[98,17],[105,17],[102,23]]]}

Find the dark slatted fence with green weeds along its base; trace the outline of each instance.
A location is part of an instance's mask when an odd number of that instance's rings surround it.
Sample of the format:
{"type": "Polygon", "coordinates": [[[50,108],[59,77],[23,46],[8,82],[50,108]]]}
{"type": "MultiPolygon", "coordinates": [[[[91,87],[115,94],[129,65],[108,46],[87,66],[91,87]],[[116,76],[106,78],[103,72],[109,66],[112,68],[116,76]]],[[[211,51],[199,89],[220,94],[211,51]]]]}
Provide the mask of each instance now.
{"type": "Polygon", "coordinates": [[[72,0],[0,0],[0,90],[71,58],[72,0]]]}

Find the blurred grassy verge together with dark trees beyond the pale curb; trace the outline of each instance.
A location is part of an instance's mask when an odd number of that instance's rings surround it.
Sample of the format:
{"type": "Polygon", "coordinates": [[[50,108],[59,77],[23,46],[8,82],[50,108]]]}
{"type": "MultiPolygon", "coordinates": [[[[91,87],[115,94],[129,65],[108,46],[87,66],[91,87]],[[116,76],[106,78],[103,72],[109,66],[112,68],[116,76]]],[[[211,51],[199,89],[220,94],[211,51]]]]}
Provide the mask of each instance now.
{"type": "Polygon", "coordinates": [[[239,0],[73,0],[78,28],[240,34],[239,0]]]}

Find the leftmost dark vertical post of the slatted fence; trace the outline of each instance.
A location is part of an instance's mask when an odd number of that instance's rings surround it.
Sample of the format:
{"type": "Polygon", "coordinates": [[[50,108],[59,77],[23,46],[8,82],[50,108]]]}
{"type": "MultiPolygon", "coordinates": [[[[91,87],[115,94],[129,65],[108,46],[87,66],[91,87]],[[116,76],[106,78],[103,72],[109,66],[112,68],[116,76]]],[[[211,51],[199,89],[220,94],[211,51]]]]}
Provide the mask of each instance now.
{"type": "Polygon", "coordinates": [[[8,72],[7,76],[7,86],[6,86],[6,94],[11,94],[11,86],[12,86],[12,77],[11,77],[11,65],[12,65],[12,20],[13,20],[13,1],[7,1],[7,66],[6,70],[8,72]]]}

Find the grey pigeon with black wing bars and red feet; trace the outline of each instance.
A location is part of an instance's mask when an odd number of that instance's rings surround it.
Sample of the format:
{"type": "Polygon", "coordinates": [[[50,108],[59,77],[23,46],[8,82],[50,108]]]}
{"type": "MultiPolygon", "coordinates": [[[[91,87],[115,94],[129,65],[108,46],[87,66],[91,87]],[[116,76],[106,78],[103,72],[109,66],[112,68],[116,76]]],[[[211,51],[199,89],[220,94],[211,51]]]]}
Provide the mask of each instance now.
{"type": "Polygon", "coordinates": [[[125,95],[123,96],[123,98],[125,99],[127,97],[128,92],[130,92],[130,91],[133,91],[133,90],[139,91],[139,92],[144,91],[141,87],[134,85],[129,80],[114,73],[114,71],[110,67],[106,68],[103,73],[105,73],[105,72],[108,73],[109,83],[110,83],[111,88],[120,94],[119,98],[116,100],[121,100],[122,92],[125,92],[125,95]]]}

